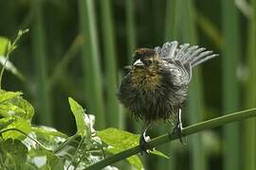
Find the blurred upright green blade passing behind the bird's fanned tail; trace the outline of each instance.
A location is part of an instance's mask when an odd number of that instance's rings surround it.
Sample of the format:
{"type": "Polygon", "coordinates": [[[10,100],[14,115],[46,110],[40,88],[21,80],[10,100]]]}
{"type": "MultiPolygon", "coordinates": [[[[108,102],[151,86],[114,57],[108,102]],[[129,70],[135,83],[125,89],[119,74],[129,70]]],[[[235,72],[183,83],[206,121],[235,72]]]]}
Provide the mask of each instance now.
{"type": "MultiPolygon", "coordinates": [[[[182,0],[180,4],[180,13],[182,20],[182,40],[184,42],[190,42],[195,44],[196,40],[196,28],[195,28],[195,18],[192,6],[192,1],[182,0]]],[[[201,70],[196,68],[192,71],[192,82],[190,85],[190,93],[188,100],[188,120],[190,123],[194,123],[199,120],[203,120],[203,89],[201,84],[201,70]]],[[[184,114],[183,114],[184,115],[184,114]]],[[[207,169],[207,158],[202,144],[202,135],[195,134],[189,138],[189,143],[191,143],[191,153],[190,158],[192,161],[192,169],[203,170],[207,169]]]]}

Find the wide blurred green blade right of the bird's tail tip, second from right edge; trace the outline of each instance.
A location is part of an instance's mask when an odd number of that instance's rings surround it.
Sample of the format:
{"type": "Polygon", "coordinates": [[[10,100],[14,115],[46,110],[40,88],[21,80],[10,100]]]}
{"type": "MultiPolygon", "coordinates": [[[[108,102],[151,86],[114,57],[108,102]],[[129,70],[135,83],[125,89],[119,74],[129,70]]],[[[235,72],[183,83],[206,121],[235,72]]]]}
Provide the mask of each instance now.
{"type": "MultiPolygon", "coordinates": [[[[222,73],[223,73],[223,110],[230,112],[238,109],[239,89],[236,77],[238,57],[240,56],[238,11],[234,1],[222,2],[222,73]]],[[[239,125],[237,123],[224,127],[224,169],[240,169],[239,125]]]]}

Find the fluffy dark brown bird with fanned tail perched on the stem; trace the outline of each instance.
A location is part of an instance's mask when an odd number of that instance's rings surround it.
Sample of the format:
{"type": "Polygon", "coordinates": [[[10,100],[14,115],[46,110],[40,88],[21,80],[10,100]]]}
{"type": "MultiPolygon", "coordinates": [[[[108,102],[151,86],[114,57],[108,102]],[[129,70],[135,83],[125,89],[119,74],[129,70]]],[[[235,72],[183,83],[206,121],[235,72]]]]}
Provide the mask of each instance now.
{"type": "Polygon", "coordinates": [[[192,69],[217,56],[205,47],[177,41],[135,51],[129,72],[120,83],[118,98],[124,108],[145,123],[139,139],[141,146],[149,141],[147,130],[160,122],[169,123],[182,142],[181,111],[189,93],[192,69]]]}

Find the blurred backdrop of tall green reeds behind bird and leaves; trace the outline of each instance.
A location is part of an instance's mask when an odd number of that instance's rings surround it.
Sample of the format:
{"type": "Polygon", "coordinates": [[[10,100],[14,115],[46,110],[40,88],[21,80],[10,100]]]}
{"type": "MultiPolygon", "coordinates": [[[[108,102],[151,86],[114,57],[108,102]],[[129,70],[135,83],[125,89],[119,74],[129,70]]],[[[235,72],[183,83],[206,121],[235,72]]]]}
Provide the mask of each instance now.
{"type": "MultiPolygon", "coordinates": [[[[256,106],[256,0],[0,0],[0,36],[30,31],[10,60],[3,89],[23,91],[35,125],[72,134],[67,96],[96,115],[96,127],[140,133],[117,100],[125,65],[137,47],[190,42],[220,54],[193,72],[184,126],[256,106]]],[[[168,131],[155,125],[151,136],[168,131]]],[[[233,123],[159,147],[146,169],[256,169],[256,120],[233,123]]]]}

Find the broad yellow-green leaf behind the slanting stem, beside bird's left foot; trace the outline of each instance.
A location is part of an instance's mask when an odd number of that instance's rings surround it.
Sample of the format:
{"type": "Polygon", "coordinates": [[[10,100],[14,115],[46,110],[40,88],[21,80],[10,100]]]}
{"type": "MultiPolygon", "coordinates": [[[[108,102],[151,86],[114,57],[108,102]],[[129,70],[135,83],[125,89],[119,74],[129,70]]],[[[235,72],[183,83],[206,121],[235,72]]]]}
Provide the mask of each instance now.
{"type": "MultiPolygon", "coordinates": [[[[139,135],[130,133],[128,131],[119,130],[117,128],[106,128],[98,132],[98,135],[101,137],[101,140],[105,144],[109,144],[109,152],[116,154],[122,150],[129,149],[138,144],[139,135]]],[[[137,156],[132,156],[127,159],[131,165],[135,166],[137,169],[142,169],[142,162],[137,156]]]]}

